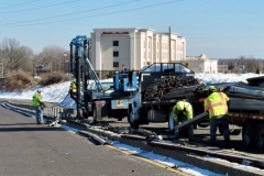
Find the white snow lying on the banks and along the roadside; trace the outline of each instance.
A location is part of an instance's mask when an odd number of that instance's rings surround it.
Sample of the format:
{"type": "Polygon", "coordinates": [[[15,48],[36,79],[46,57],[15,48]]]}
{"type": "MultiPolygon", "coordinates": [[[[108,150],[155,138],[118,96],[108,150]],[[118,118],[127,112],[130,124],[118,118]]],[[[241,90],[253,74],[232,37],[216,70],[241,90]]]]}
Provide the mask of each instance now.
{"type": "MultiPolygon", "coordinates": [[[[200,79],[201,82],[204,82],[204,84],[222,84],[222,82],[239,82],[239,81],[246,84],[248,78],[260,77],[260,76],[264,76],[264,74],[261,74],[261,75],[257,75],[257,74],[240,74],[240,75],[238,75],[238,74],[196,74],[195,75],[195,77],[200,79]]],[[[55,85],[51,85],[51,86],[46,86],[46,87],[35,87],[33,89],[24,90],[22,92],[0,91],[0,98],[8,98],[10,100],[12,100],[12,99],[31,100],[31,98],[35,94],[35,91],[40,89],[40,90],[42,90],[43,100],[45,102],[57,103],[64,108],[76,108],[74,100],[67,96],[69,85],[70,85],[70,81],[66,81],[66,82],[55,84],[55,85]]],[[[2,105],[2,106],[4,107],[4,105],[2,105]]],[[[28,113],[28,112],[25,112],[25,113],[28,113]]],[[[67,127],[66,124],[58,124],[58,128],[63,128],[67,131],[78,133],[78,129],[67,127]]],[[[196,175],[196,176],[229,175],[228,173],[224,175],[220,175],[220,174],[210,172],[208,169],[202,169],[200,167],[196,167],[188,163],[184,163],[184,162],[180,162],[180,161],[167,157],[167,156],[158,155],[153,152],[146,152],[146,151],[143,151],[142,148],[127,145],[127,144],[120,143],[118,141],[112,141],[111,145],[114,147],[118,147],[120,150],[130,152],[131,154],[144,157],[144,158],[148,158],[151,161],[166,165],[168,167],[177,166],[177,169],[179,169],[186,174],[196,175]]],[[[205,158],[208,161],[217,160],[217,161],[221,161],[224,163],[230,163],[228,161],[216,158],[216,157],[210,157],[210,156],[205,156],[205,158]]],[[[255,168],[252,166],[244,166],[244,165],[237,164],[237,163],[231,163],[231,166],[233,168],[242,168],[242,169],[249,169],[252,172],[263,172],[264,173],[264,169],[255,168]]]]}

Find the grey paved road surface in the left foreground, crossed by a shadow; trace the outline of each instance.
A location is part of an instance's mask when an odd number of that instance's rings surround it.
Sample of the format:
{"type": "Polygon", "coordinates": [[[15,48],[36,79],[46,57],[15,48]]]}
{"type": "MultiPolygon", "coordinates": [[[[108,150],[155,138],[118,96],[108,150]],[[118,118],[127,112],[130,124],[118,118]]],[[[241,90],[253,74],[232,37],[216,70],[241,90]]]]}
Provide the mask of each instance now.
{"type": "Polygon", "coordinates": [[[87,138],[36,124],[35,119],[0,107],[1,176],[154,176],[179,172],[87,138]]]}

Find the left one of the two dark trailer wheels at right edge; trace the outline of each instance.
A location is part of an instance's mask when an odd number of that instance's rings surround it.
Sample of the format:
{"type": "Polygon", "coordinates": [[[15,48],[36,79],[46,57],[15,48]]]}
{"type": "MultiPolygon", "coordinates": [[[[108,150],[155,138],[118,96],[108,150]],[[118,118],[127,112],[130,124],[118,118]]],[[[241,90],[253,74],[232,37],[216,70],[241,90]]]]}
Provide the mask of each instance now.
{"type": "Polygon", "coordinates": [[[254,123],[251,121],[245,121],[242,129],[242,139],[243,143],[246,147],[251,147],[254,145],[254,123]]]}

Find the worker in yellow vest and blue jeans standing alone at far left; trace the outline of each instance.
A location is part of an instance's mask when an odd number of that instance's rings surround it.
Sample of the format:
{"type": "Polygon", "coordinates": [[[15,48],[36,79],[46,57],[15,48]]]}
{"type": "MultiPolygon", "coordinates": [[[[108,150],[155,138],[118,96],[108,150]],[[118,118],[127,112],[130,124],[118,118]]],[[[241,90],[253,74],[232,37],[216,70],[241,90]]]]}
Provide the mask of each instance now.
{"type": "Polygon", "coordinates": [[[37,90],[34,96],[32,97],[32,105],[35,108],[35,119],[37,124],[43,124],[43,102],[41,90],[37,90]]]}

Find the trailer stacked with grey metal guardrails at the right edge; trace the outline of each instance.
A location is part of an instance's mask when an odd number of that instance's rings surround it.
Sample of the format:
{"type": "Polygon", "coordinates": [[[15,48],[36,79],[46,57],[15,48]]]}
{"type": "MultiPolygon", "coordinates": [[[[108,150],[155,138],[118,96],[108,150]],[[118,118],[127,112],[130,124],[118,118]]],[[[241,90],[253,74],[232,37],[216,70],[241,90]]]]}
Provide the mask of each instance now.
{"type": "MultiPolygon", "coordinates": [[[[264,148],[264,77],[246,79],[249,84],[240,84],[218,87],[230,98],[229,123],[230,134],[240,134],[242,129],[242,141],[248,147],[256,146],[264,148]]],[[[201,91],[202,92],[202,91],[201,91]]],[[[193,103],[196,114],[204,112],[205,94],[188,97],[193,103]]],[[[219,128],[221,133],[221,128],[219,128]]]]}

